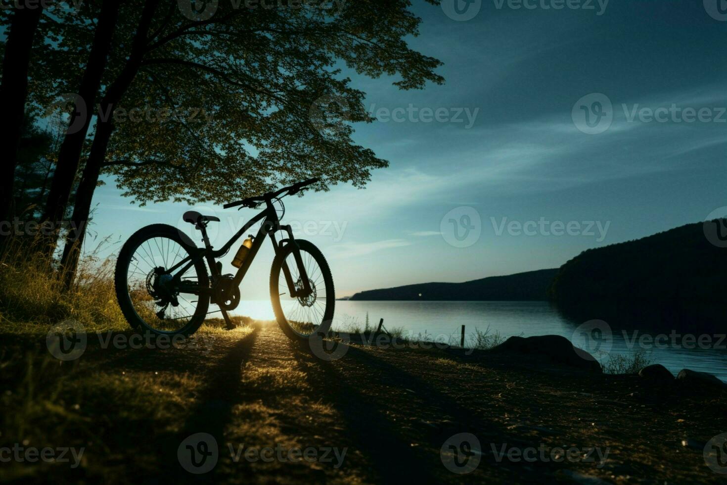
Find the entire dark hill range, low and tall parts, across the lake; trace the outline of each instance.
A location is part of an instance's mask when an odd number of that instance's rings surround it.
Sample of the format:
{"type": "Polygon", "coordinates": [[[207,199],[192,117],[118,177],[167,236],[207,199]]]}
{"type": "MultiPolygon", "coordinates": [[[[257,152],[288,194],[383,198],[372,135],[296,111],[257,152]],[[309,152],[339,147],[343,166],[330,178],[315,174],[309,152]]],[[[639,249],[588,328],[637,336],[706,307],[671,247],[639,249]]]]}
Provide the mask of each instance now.
{"type": "MultiPolygon", "coordinates": [[[[727,222],[724,223],[727,227],[727,222]]],[[[704,223],[586,251],[558,269],[465,281],[372,289],[349,300],[555,300],[569,307],[598,302],[723,302],[727,248],[704,236],[704,223]]],[[[630,303],[628,303],[630,304],[630,303]]],[[[560,306],[560,305],[559,305],[560,306]]]]}

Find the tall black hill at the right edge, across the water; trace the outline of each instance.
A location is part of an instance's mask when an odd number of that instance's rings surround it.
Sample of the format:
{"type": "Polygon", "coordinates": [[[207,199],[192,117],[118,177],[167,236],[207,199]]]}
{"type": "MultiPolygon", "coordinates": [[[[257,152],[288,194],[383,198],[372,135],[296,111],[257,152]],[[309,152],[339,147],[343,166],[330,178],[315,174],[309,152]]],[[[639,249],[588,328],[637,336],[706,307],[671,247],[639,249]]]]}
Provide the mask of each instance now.
{"type": "Polygon", "coordinates": [[[565,304],[593,300],[723,302],[727,248],[710,244],[704,236],[704,223],[696,223],[588,249],[561,266],[548,294],[565,304]]]}

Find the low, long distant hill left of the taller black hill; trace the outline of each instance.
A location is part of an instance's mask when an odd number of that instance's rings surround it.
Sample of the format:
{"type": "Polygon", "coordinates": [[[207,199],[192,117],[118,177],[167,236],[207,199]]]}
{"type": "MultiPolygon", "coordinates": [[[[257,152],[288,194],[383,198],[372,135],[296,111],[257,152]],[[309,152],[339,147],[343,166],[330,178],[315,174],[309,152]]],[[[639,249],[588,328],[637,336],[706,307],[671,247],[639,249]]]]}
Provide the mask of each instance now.
{"type": "Polygon", "coordinates": [[[409,284],[356,293],[350,300],[547,300],[547,288],[556,273],[557,268],[464,283],[409,284]]]}

